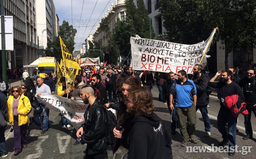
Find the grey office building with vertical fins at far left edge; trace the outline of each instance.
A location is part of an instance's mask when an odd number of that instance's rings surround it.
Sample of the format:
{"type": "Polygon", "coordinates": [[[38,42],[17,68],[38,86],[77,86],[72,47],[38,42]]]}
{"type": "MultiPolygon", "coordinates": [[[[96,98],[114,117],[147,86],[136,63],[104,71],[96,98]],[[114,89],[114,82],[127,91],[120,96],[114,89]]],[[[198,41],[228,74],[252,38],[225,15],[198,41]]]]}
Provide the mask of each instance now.
{"type": "MultiPolygon", "coordinates": [[[[4,0],[4,15],[13,16],[14,50],[6,52],[7,63],[1,65],[22,69],[38,58],[36,0],[4,0]]],[[[28,73],[32,76],[32,68],[28,73]]]]}

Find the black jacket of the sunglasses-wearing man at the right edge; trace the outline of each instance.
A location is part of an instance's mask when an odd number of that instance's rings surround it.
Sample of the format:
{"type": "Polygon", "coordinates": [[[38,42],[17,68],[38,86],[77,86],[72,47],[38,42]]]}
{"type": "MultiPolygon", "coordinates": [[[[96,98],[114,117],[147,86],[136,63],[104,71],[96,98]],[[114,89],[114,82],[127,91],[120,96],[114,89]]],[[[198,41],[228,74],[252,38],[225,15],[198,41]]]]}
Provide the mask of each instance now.
{"type": "Polygon", "coordinates": [[[254,105],[256,104],[256,78],[252,77],[251,79],[243,78],[239,81],[239,86],[243,90],[243,94],[245,96],[245,103],[254,105]],[[250,84],[249,84],[250,83],[250,84]]]}

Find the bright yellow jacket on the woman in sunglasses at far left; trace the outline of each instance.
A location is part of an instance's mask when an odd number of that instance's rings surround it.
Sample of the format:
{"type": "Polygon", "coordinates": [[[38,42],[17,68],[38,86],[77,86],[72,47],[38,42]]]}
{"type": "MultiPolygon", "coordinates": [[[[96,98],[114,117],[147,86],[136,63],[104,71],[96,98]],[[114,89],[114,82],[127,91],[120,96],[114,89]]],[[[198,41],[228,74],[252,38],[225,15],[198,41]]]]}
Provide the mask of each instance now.
{"type": "MultiPolygon", "coordinates": [[[[8,114],[8,121],[11,125],[13,125],[13,96],[9,96],[7,100],[7,114],[8,114]]],[[[21,95],[19,99],[18,111],[21,112],[19,114],[19,126],[28,123],[28,113],[31,109],[31,104],[28,97],[21,95]]]]}

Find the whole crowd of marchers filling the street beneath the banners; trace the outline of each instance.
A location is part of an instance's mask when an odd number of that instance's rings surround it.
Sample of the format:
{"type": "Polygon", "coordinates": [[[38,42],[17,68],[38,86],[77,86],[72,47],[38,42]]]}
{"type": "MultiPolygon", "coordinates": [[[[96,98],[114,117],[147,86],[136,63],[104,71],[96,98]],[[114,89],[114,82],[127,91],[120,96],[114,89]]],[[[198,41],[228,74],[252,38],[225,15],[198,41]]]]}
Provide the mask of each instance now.
{"type": "MultiPolygon", "coordinates": [[[[119,68],[110,65],[100,66],[97,70],[93,70],[93,67],[88,69],[90,71],[81,68],[79,75],[75,76],[74,87],[62,77],[62,85],[57,89],[59,96],[82,100],[88,105],[84,114],[85,123],[77,130],[77,139],[74,142],[74,145],[87,144],[86,159],[106,159],[109,145],[113,150],[114,159],[117,154],[129,159],[171,159],[172,142],[167,127],[171,127],[171,135],[175,135],[176,129],[179,128],[183,138],[182,147],[186,147],[189,141],[197,144],[198,140],[193,134],[196,129],[196,111],[199,109],[205,126],[205,137],[211,135],[207,106],[213,88],[217,89],[220,100],[217,125],[223,140],[219,146],[236,145],[238,113],[234,113],[234,109],[245,115],[246,136],[243,139],[252,139],[251,113],[256,116],[256,99],[253,98],[256,93],[254,68],[248,68],[246,77],[240,81],[235,76],[235,68],[218,71],[210,78],[201,65],[194,66],[194,76],[191,80],[184,70],[177,74],[134,72],[131,67],[119,68]],[[220,79],[216,81],[218,76],[220,79]],[[151,89],[155,84],[159,90],[159,101],[169,109],[172,122],[170,126],[164,124],[154,113],[151,89]],[[243,102],[247,104],[246,107],[243,102]],[[109,108],[117,111],[116,118],[109,118],[109,108]],[[110,120],[117,123],[113,129],[109,127],[110,120]],[[109,129],[112,132],[110,135],[109,129]],[[109,138],[111,135],[113,138],[109,138]]],[[[41,134],[49,130],[49,109],[36,97],[54,94],[56,89],[56,81],[51,73],[45,74],[45,78],[36,78],[36,85],[30,77],[25,81],[26,84],[21,87],[12,87],[8,98],[2,93],[6,86],[0,83],[0,117],[2,115],[12,125],[14,155],[28,147],[26,135],[30,134],[29,125],[38,123],[36,118],[28,117],[33,107],[35,112],[41,110],[41,134]]],[[[72,126],[63,115],[61,123],[64,129],[72,126]]],[[[8,153],[4,137],[5,126],[2,124],[5,123],[1,121],[0,155],[5,157],[8,153]]],[[[235,152],[230,151],[228,155],[235,155],[235,152]]]]}

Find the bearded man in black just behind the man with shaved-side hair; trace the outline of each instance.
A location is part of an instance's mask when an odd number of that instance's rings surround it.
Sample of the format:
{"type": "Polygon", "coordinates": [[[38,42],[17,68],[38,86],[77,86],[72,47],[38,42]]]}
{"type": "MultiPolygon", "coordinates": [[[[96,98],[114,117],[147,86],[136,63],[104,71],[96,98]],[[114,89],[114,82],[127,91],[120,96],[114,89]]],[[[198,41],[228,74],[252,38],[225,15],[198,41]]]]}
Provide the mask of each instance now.
{"type": "Polygon", "coordinates": [[[92,85],[100,91],[100,100],[102,103],[107,103],[107,91],[103,87],[103,85],[100,83],[101,78],[100,74],[93,74],[92,75],[92,85]]]}

